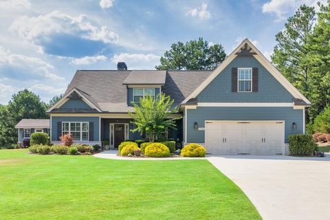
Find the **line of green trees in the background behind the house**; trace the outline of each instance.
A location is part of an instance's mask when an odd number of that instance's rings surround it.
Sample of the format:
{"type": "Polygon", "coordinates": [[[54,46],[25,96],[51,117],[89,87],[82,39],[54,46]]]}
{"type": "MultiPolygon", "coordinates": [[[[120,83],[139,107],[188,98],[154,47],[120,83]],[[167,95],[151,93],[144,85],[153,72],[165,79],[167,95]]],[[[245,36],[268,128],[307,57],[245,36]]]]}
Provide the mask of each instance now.
{"type": "MultiPolygon", "coordinates": [[[[307,132],[330,133],[330,0],[318,3],[320,10],[301,5],[276,34],[271,56],[278,70],[312,103],[306,111],[307,132]]],[[[225,59],[221,44],[198,40],[173,43],[155,69],[215,69],[225,59]]],[[[17,142],[14,126],[23,118],[48,118],[45,111],[62,95],[49,103],[27,89],[0,104],[0,146],[17,142]]]]}

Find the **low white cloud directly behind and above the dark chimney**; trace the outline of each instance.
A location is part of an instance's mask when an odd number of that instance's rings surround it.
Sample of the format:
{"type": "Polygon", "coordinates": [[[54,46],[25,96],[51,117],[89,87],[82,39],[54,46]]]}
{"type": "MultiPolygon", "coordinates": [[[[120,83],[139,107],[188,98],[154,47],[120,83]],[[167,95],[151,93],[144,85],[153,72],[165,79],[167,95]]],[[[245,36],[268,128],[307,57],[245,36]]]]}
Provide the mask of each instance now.
{"type": "Polygon", "coordinates": [[[125,62],[129,69],[154,69],[159,63],[160,56],[155,54],[115,54],[113,63],[125,62]]]}

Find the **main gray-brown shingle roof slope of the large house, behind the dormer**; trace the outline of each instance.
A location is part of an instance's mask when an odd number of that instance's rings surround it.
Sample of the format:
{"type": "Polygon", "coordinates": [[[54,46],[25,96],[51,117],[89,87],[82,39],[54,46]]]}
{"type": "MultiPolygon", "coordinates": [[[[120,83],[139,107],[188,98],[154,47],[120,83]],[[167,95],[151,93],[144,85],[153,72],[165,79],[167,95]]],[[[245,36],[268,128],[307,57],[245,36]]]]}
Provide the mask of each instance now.
{"type": "MultiPolygon", "coordinates": [[[[104,112],[126,113],[127,111],[133,111],[133,107],[127,106],[127,87],[123,84],[131,72],[133,71],[78,70],[65,94],[76,88],[104,112]]],[[[154,74],[156,72],[159,75],[164,73],[165,81],[162,92],[175,100],[175,106],[178,106],[212,73],[211,71],[166,72],[155,70],[138,72],[144,72],[142,74],[145,74],[145,72],[154,74]]]]}

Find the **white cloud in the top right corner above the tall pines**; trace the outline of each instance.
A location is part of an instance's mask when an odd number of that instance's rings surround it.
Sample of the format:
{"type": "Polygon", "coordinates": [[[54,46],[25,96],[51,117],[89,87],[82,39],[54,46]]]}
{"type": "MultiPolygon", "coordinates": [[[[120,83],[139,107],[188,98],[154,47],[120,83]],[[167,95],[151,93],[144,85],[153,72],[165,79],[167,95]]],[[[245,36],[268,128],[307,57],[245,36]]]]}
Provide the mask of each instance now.
{"type": "Polygon", "coordinates": [[[300,5],[306,4],[318,8],[317,3],[327,3],[327,0],[270,0],[263,4],[263,13],[276,14],[276,21],[283,21],[291,16],[300,5]]]}

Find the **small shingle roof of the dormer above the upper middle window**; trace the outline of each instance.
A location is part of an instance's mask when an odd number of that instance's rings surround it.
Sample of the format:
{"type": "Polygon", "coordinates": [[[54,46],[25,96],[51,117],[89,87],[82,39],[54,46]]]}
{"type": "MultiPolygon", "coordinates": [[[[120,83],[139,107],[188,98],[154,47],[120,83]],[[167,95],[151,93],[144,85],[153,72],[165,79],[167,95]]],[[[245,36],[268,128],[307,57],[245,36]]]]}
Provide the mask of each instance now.
{"type": "Polygon", "coordinates": [[[153,84],[164,85],[166,71],[158,70],[132,70],[122,84],[137,85],[137,84],[153,84]]]}

